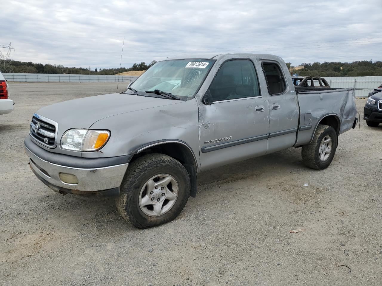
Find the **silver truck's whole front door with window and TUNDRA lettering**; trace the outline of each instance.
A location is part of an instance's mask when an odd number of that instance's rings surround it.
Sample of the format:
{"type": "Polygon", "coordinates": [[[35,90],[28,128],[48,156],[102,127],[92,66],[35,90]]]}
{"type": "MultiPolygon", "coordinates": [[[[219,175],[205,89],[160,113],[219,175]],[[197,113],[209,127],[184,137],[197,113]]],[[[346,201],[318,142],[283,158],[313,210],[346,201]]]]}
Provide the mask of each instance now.
{"type": "Polygon", "coordinates": [[[203,104],[199,110],[201,169],[264,155],[269,106],[261,95],[253,62],[223,63],[207,93],[212,104],[203,104]]]}

